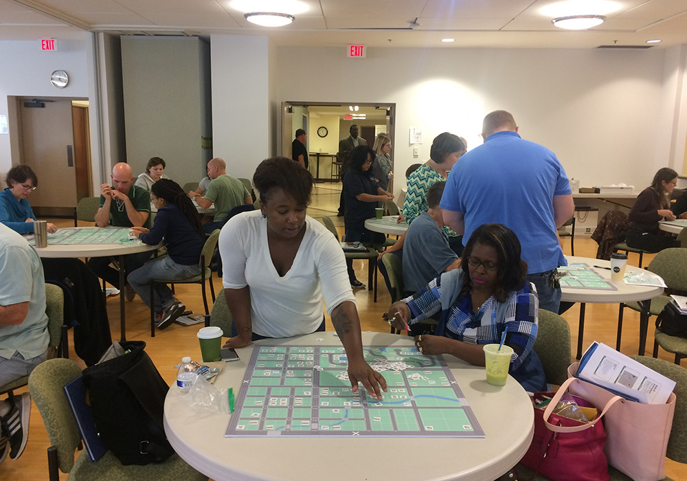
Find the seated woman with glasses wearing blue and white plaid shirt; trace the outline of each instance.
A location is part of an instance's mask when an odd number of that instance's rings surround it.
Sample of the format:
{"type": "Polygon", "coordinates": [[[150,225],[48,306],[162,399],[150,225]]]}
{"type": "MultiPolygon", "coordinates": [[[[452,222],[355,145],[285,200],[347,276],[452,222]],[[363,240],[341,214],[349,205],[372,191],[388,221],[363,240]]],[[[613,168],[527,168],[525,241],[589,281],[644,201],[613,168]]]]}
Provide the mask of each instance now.
{"type": "Polygon", "coordinates": [[[441,312],[434,335],[418,335],[415,345],[425,355],[450,354],[484,366],[484,344],[498,344],[506,333],[513,348],[509,373],[525,390],[545,390],[544,370],[532,350],[537,339],[539,300],[526,282],[527,263],[520,241],[502,224],[477,227],[468,240],[461,269],[429,282],[427,287],[394,302],[392,326],[405,329],[441,312]]]}

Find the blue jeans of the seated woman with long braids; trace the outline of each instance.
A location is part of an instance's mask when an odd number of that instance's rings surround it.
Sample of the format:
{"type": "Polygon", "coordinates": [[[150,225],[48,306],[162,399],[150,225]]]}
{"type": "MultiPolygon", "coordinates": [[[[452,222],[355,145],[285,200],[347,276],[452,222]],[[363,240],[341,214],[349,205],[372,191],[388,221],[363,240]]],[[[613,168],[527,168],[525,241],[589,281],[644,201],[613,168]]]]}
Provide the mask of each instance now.
{"type": "MultiPolygon", "coordinates": [[[[197,264],[181,265],[174,262],[170,256],[153,259],[146,262],[143,267],[139,267],[130,273],[126,280],[128,280],[131,288],[141,296],[146,306],[150,307],[150,281],[174,281],[184,280],[193,276],[198,276],[201,273],[201,268],[197,264]]],[[[162,282],[155,283],[155,311],[160,313],[162,306],[170,302],[174,298],[172,289],[167,284],[162,282]]]]}

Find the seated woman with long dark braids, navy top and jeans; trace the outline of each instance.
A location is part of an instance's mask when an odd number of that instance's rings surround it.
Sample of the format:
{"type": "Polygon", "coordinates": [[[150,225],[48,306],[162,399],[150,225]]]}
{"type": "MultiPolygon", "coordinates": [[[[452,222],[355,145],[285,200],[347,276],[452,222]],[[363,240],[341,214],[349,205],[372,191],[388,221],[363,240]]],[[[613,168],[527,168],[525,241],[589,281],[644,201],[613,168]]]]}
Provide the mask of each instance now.
{"type": "Polygon", "coordinates": [[[157,208],[153,228],[133,227],[131,231],[148,245],[156,245],[164,238],[169,255],[146,262],[131,272],[126,280],[148,307],[153,302],[157,328],[164,329],[186,309],[174,299],[172,290],[164,281],[181,280],[201,273],[198,263],[205,233],[191,199],[178,183],[159,179],[150,188],[150,201],[157,208]],[[155,284],[155,300],[150,299],[150,281],[153,279],[163,281],[155,284]]]}

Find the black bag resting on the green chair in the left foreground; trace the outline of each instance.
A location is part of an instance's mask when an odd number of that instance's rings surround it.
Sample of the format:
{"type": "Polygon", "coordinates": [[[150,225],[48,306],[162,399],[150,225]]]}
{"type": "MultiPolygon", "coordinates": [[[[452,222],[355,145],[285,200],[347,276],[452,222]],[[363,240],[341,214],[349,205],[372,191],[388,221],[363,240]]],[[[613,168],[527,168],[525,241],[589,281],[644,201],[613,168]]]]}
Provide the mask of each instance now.
{"type": "Polygon", "coordinates": [[[143,341],[120,343],[128,353],[86,368],[91,407],[102,442],[122,465],[148,465],[174,454],[163,425],[169,386],[143,341]]]}

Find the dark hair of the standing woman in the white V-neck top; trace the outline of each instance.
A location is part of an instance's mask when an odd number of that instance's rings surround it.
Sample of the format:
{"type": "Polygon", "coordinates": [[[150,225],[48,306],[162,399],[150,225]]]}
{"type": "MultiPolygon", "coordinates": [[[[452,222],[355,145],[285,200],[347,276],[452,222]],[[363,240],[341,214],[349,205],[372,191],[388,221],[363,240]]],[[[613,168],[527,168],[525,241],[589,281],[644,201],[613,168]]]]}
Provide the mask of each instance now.
{"type": "Polygon", "coordinates": [[[298,162],[286,157],[270,157],[260,162],[253,175],[260,202],[267,203],[275,189],[290,195],[299,205],[310,205],[313,175],[298,162]]]}

